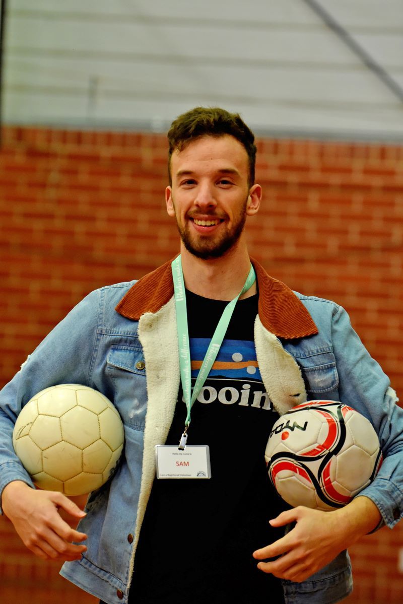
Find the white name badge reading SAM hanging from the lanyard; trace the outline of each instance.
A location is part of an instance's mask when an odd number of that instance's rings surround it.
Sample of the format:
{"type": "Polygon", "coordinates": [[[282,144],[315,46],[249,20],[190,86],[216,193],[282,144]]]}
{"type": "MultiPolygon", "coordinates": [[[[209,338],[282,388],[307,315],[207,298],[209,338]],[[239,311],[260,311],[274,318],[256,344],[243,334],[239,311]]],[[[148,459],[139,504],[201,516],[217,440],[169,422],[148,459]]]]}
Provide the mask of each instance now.
{"type": "Polygon", "coordinates": [[[157,478],[211,478],[208,445],[156,445],[157,478]]]}

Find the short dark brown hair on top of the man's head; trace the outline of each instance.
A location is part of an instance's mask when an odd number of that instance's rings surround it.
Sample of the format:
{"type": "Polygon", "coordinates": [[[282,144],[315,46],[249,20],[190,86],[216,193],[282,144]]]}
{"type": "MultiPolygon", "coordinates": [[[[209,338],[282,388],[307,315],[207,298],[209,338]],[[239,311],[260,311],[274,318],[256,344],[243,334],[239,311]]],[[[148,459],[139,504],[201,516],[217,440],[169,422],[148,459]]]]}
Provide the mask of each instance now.
{"type": "Polygon", "coordinates": [[[196,107],[179,115],[171,124],[168,132],[169,141],[169,184],[172,185],[171,158],[175,151],[181,152],[185,147],[202,137],[222,137],[231,135],[242,144],[249,161],[249,186],[254,184],[256,145],[254,134],[242,121],[239,114],[231,114],[219,107],[196,107]]]}

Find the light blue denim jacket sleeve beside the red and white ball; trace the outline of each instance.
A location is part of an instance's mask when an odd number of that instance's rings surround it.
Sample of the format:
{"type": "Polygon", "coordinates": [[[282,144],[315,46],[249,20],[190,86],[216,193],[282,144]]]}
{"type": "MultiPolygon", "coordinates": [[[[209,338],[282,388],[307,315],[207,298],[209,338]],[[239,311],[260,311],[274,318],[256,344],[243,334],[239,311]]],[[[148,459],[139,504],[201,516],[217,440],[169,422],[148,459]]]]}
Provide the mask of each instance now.
{"type": "Polygon", "coordinates": [[[403,516],[403,409],[379,364],[369,355],[340,306],[332,317],[332,340],[339,374],[340,400],[374,426],[384,461],[375,480],[359,493],[379,509],[392,528],[403,516]]]}

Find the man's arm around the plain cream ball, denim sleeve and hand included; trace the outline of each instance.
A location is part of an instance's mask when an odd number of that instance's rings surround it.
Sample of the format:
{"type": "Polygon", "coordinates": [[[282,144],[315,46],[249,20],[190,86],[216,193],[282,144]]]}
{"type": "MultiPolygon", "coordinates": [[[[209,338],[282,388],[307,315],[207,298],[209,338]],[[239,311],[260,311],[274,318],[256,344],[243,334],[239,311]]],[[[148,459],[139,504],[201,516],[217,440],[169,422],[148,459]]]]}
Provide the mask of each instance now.
{"type": "MultiPolygon", "coordinates": [[[[37,490],[15,454],[12,434],[22,406],[37,392],[66,382],[87,384],[97,335],[99,292],[92,292],[41,342],[0,393],[0,503],[24,544],[44,559],[74,560],[86,539],[59,514],[85,516],[65,495],[37,490]]],[[[1,511],[1,510],[0,510],[1,511]]]]}

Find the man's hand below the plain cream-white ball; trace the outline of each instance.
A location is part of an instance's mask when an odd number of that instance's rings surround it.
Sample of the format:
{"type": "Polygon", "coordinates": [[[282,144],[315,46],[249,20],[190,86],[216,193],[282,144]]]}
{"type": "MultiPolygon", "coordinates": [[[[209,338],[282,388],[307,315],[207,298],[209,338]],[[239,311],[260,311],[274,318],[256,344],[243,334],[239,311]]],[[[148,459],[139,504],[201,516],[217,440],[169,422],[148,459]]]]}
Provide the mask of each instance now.
{"type": "Polygon", "coordinates": [[[2,492],[2,508],[24,544],[44,560],[79,560],[86,551],[84,533],[71,528],[59,515],[62,508],[80,519],[85,512],[62,493],[31,489],[21,480],[8,483],[2,492]]]}

